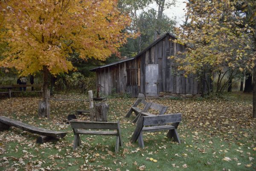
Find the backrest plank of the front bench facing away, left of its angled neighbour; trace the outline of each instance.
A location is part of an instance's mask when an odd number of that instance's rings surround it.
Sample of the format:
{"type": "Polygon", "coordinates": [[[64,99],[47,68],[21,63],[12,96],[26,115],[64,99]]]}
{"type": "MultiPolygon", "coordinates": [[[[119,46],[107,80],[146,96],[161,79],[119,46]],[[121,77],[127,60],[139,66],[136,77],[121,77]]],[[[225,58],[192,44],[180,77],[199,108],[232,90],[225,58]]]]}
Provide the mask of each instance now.
{"type": "Polygon", "coordinates": [[[108,130],[118,130],[118,122],[87,122],[72,119],[70,120],[70,125],[73,129],[108,129],[108,130]]]}

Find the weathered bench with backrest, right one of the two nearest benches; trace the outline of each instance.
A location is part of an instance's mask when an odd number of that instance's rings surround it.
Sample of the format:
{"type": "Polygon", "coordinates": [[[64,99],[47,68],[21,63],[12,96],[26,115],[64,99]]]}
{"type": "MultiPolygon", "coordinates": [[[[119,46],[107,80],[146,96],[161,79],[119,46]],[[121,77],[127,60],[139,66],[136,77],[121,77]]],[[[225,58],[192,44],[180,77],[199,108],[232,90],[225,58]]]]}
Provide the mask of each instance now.
{"type": "Polygon", "coordinates": [[[180,122],[181,113],[159,116],[141,116],[137,121],[137,127],[131,137],[131,142],[136,142],[138,140],[140,147],[144,148],[143,132],[169,130],[167,137],[170,139],[173,137],[176,142],[180,143],[180,138],[177,134],[177,127],[180,122]],[[167,125],[169,123],[172,123],[172,125],[167,125]]]}

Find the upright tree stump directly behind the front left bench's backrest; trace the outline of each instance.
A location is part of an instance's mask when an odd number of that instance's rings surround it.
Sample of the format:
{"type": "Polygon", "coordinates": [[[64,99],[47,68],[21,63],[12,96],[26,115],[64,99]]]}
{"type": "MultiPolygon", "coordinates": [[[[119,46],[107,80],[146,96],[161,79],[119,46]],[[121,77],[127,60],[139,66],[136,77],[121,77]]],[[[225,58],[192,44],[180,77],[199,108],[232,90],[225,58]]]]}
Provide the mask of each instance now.
{"type": "Polygon", "coordinates": [[[106,103],[98,103],[94,105],[95,111],[95,121],[96,122],[108,122],[107,121],[107,113],[108,113],[108,104],[106,103]]]}

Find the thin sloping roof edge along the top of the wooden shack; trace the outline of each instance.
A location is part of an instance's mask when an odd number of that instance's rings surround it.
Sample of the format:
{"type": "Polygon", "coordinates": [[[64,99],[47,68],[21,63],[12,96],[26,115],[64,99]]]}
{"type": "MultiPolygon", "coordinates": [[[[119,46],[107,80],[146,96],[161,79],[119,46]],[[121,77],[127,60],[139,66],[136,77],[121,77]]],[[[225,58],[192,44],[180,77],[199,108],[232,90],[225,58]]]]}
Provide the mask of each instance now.
{"type": "Polygon", "coordinates": [[[140,53],[138,53],[136,56],[134,56],[133,58],[128,58],[128,59],[124,59],[122,61],[116,61],[116,62],[112,62],[110,64],[106,64],[106,65],[102,65],[102,66],[99,66],[99,67],[96,67],[96,68],[93,68],[93,69],[90,69],[90,71],[96,71],[98,69],[101,69],[101,68],[105,68],[105,67],[109,67],[109,66],[112,66],[112,65],[115,65],[115,64],[119,64],[119,63],[122,63],[122,62],[126,62],[126,61],[131,61],[133,59],[136,59],[138,58],[141,54],[143,54],[144,52],[146,52],[148,49],[150,49],[152,46],[154,46],[156,43],[158,43],[160,40],[162,40],[163,38],[166,37],[166,35],[169,35],[171,36],[172,38],[176,38],[175,35],[173,35],[172,33],[170,32],[166,32],[164,35],[162,35],[160,38],[158,38],[157,40],[155,40],[153,43],[151,43],[148,47],[146,47],[145,49],[143,49],[143,51],[141,51],[140,53]]]}

